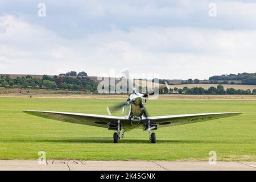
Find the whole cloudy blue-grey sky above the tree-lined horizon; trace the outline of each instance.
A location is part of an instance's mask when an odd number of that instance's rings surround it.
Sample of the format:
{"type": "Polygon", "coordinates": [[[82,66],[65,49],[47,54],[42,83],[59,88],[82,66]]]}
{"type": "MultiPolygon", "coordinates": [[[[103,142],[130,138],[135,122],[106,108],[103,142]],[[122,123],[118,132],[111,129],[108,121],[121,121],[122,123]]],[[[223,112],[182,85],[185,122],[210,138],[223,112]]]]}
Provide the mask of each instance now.
{"type": "Polygon", "coordinates": [[[0,73],[125,68],[172,79],[256,72],[256,2],[0,0],[0,73]]]}

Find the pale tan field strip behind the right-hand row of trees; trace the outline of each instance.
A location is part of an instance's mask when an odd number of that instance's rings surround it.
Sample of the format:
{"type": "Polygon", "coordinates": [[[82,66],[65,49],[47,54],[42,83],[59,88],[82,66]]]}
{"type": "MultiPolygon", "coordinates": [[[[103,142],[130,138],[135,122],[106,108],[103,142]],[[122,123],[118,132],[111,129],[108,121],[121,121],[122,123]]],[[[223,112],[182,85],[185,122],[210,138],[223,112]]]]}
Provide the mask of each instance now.
{"type": "MultiPolygon", "coordinates": [[[[239,84],[221,84],[224,86],[224,89],[228,89],[228,88],[234,88],[234,89],[243,89],[243,90],[253,90],[256,89],[256,85],[239,85],[239,84]]],[[[193,88],[193,87],[202,87],[204,89],[209,89],[211,86],[214,86],[217,88],[218,84],[181,84],[181,85],[170,85],[169,88],[179,88],[179,89],[183,89],[184,86],[187,86],[188,88],[193,88]]]]}

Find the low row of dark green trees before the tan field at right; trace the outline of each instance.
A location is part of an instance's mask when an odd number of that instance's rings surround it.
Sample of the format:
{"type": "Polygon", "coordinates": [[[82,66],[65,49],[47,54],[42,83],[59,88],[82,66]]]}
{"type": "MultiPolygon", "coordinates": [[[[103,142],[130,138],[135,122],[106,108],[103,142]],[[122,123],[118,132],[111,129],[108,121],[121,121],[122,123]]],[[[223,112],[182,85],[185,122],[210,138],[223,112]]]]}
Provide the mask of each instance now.
{"type": "Polygon", "coordinates": [[[161,90],[162,94],[195,94],[195,95],[203,95],[203,94],[208,94],[208,95],[224,95],[224,94],[230,94],[230,95],[256,95],[256,89],[254,90],[242,90],[242,89],[234,89],[234,88],[228,88],[224,89],[223,85],[218,85],[217,88],[214,86],[211,86],[209,89],[204,89],[202,87],[194,87],[194,88],[188,88],[187,86],[184,86],[183,89],[175,87],[174,89],[168,89],[164,88],[161,90]]]}

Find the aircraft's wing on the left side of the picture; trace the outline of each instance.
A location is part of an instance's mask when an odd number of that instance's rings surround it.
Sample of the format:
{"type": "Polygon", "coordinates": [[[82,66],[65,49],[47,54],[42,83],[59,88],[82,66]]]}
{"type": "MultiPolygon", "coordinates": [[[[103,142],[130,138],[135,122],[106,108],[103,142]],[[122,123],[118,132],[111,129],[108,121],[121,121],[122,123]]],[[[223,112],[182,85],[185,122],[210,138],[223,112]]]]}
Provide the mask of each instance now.
{"type": "Polygon", "coordinates": [[[23,111],[27,114],[36,115],[47,119],[55,119],[58,121],[78,123],[82,125],[98,126],[98,127],[109,127],[109,122],[117,123],[118,120],[129,121],[129,118],[118,117],[112,115],[98,115],[98,114],[81,114],[81,113],[65,113],[55,111],[36,111],[28,110],[23,111]]]}

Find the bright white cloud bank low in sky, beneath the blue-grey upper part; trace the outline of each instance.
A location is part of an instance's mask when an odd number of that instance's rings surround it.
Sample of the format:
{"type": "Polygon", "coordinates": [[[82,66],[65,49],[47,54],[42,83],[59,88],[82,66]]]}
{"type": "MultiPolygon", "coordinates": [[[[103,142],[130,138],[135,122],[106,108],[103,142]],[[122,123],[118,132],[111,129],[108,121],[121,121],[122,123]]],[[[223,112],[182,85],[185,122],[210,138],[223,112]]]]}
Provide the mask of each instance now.
{"type": "Polygon", "coordinates": [[[161,78],[208,78],[255,72],[255,46],[255,30],[148,26],[65,39],[17,16],[0,17],[0,73],[96,76],[130,68],[161,78]]]}

